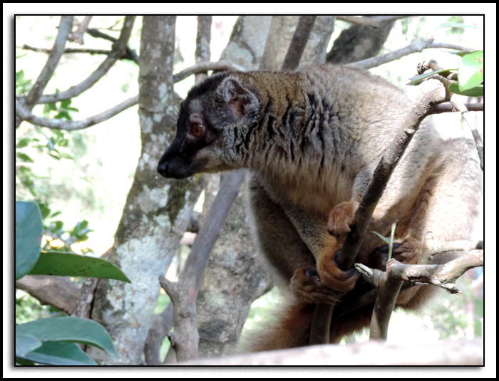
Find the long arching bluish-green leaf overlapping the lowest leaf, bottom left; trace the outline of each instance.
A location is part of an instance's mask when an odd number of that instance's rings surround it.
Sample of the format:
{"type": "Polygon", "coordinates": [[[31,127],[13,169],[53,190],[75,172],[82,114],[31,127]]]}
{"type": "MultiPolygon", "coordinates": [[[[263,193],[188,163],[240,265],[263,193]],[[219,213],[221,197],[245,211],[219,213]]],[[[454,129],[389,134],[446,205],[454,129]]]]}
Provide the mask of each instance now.
{"type": "MultiPolygon", "coordinates": [[[[16,332],[29,333],[41,341],[70,341],[93,345],[117,357],[113,343],[102,325],[76,317],[46,318],[16,325],[16,332]]],[[[29,358],[31,360],[31,358],[29,358]]],[[[34,360],[36,361],[36,360],[34,360]]]]}

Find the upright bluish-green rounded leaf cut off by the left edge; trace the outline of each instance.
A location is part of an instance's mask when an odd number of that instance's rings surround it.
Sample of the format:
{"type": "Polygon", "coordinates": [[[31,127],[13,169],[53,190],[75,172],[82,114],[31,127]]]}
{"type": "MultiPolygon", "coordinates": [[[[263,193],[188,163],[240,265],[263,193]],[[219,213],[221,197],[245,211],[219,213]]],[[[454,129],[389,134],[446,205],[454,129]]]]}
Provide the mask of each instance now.
{"type": "Polygon", "coordinates": [[[16,201],[16,279],[26,275],[38,261],[41,229],[38,204],[16,201]]]}

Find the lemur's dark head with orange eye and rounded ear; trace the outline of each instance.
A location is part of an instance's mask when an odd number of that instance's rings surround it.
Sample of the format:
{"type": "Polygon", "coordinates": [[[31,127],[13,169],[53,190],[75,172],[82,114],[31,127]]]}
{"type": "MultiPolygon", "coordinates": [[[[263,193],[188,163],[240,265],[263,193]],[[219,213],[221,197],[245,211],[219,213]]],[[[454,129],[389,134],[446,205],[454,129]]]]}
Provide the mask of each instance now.
{"type": "Polygon", "coordinates": [[[197,172],[217,172],[236,167],[230,155],[234,143],[225,135],[237,136],[245,127],[249,104],[256,98],[227,73],[214,75],[192,88],[180,105],[177,135],[158,164],[163,177],[184,179],[197,172]],[[227,160],[227,157],[231,157],[227,160]]]}

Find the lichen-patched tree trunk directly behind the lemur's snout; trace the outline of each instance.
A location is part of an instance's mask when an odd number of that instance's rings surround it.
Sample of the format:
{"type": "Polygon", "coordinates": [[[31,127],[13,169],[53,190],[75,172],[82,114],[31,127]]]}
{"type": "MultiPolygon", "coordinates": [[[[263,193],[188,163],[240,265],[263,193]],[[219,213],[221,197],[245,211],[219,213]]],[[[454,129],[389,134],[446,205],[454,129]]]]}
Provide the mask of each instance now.
{"type": "Polygon", "coordinates": [[[99,364],[140,364],[160,292],[158,276],[165,274],[178,248],[202,187],[198,179],[175,182],[156,171],[175,136],[174,47],[175,16],[144,16],[139,76],[142,151],[114,245],[106,253],[132,283],[99,281],[91,318],[108,330],[119,356],[111,358],[91,348],[89,353],[99,364]]]}

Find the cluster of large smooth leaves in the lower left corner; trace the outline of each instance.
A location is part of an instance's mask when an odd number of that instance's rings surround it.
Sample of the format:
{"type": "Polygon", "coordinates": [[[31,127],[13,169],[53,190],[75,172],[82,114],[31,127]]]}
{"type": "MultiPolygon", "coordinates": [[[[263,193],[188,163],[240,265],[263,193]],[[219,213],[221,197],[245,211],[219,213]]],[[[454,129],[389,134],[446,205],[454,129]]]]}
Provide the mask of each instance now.
{"type": "MultiPolygon", "coordinates": [[[[41,231],[38,204],[16,202],[16,279],[26,274],[58,273],[128,281],[119,268],[103,259],[41,253],[41,231]]],[[[22,302],[16,301],[16,304],[22,302]]],[[[108,333],[93,320],[60,317],[16,325],[16,361],[19,364],[96,365],[75,343],[94,345],[116,355],[108,333]]]]}

